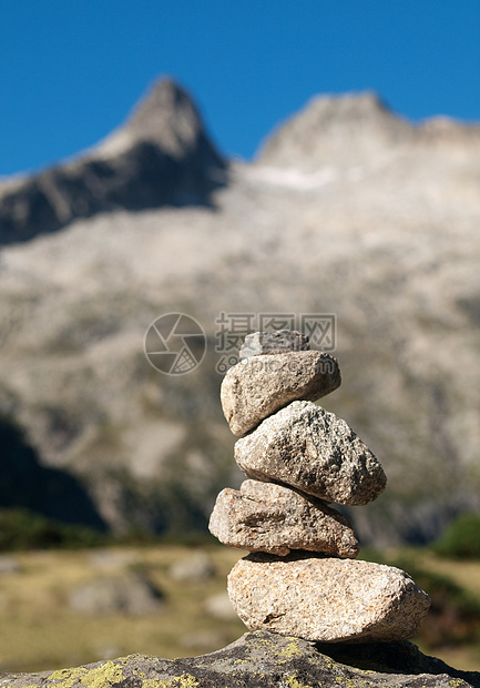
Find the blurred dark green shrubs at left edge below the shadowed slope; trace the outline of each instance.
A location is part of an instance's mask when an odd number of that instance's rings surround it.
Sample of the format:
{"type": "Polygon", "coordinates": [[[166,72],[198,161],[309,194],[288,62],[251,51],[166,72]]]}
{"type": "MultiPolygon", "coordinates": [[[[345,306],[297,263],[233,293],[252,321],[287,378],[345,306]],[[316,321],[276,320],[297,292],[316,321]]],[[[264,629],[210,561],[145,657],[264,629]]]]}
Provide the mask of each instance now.
{"type": "Polygon", "coordinates": [[[84,526],[59,523],[23,508],[0,509],[0,552],[78,549],[106,544],[106,537],[84,526]]]}

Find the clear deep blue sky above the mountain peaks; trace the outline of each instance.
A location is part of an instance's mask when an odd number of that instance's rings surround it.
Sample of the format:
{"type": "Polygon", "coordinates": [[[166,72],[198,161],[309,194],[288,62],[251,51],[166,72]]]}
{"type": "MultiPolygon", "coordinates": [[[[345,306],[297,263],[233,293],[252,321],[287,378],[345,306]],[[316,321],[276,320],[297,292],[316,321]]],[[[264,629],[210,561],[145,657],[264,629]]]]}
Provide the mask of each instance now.
{"type": "Polygon", "coordinates": [[[316,93],[480,120],[479,0],[0,0],[0,175],[103,138],[170,74],[248,159],[316,93]]]}

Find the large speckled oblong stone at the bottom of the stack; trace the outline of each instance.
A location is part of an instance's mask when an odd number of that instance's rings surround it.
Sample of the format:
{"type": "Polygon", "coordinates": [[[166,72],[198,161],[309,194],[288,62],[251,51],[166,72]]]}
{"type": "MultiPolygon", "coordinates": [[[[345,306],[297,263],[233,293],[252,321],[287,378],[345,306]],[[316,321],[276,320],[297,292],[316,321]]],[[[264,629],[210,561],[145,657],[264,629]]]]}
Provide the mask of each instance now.
{"type": "Polygon", "coordinates": [[[251,630],[323,643],[406,640],[430,606],[399,568],[300,554],[248,555],[232,569],[228,595],[251,630]]]}

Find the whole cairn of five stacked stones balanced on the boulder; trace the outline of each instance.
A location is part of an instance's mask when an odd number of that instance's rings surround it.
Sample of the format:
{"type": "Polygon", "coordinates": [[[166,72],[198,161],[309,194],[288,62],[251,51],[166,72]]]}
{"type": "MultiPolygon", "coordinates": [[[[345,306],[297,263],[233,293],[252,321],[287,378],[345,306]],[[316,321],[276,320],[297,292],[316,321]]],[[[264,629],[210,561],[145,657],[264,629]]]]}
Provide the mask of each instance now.
{"type": "Polygon", "coordinates": [[[351,523],[387,478],[341,418],[313,402],[340,385],[337,361],[287,330],[248,335],[222,383],[222,407],[247,478],[217,497],[210,529],[251,554],[228,576],[251,630],[324,643],[411,638],[430,600],[405,571],[357,560],[351,523]]]}

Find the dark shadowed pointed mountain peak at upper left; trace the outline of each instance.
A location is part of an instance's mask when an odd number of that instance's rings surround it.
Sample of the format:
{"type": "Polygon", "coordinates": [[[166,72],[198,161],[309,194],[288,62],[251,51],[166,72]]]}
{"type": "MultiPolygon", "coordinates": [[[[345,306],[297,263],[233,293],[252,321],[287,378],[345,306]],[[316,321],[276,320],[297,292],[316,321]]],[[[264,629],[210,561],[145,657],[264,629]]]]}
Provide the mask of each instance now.
{"type": "Polygon", "coordinates": [[[73,161],[0,188],[0,244],[54,232],[78,217],[205,204],[225,179],[190,95],[159,81],[131,118],[73,161]]]}

